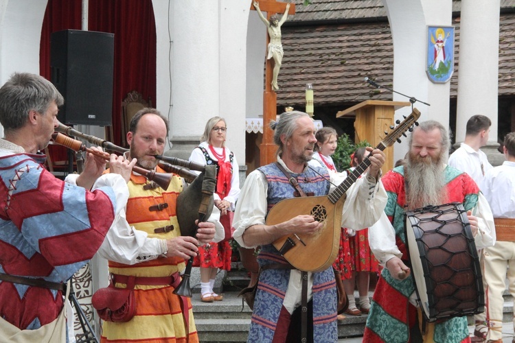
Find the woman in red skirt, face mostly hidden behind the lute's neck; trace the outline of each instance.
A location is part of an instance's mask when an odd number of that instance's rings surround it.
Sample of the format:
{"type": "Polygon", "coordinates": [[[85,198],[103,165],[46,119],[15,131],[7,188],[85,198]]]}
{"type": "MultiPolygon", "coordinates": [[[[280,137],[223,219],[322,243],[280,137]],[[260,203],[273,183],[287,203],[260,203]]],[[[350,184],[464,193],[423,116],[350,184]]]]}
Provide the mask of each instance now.
{"type": "MultiPolygon", "coordinates": [[[[358,147],[351,155],[349,171],[353,171],[363,159],[369,155],[365,147],[358,147]]],[[[368,229],[354,231],[347,228],[347,239],[350,246],[352,261],[352,272],[350,277],[343,281],[345,292],[349,296],[349,308],[345,313],[354,316],[361,316],[362,313],[368,314],[370,310],[370,299],[368,297],[370,273],[379,272],[379,263],[374,257],[368,244],[368,229]],[[354,299],[354,286],[358,283],[359,302],[356,304],[354,299]],[[357,306],[356,306],[357,305],[357,306]]]]}

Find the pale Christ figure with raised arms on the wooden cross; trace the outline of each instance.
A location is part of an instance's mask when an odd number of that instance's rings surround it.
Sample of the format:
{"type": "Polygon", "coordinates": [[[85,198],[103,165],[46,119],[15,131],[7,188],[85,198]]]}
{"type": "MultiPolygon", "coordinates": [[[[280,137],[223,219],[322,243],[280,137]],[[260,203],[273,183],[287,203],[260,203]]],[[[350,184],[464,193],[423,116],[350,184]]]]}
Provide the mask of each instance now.
{"type": "Polygon", "coordinates": [[[271,85],[273,91],[279,91],[279,86],[277,85],[277,77],[279,76],[279,69],[281,69],[282,64],[282,56],[284,55],[281,43],[281,26],[284,24],[286,19],[288,19],[288,10],[290,10],[290,3],[286,4],[286,11],[284,11],[284,14],[282,15],[280,21],[277,17],[277,14],[271,16],[270,21],[268,21],[263,16],[258,1],[254,1],[253,5],[255,10],[258,11],[258,15],[260,16],[260,19],[263,21],[264,25],[268,27],[268,36],[270,38],[270,42],[268,43],[268,55],[266,56],[266,59],[270,60],[271,58],[273,58],[274,66],[271,85]]]}

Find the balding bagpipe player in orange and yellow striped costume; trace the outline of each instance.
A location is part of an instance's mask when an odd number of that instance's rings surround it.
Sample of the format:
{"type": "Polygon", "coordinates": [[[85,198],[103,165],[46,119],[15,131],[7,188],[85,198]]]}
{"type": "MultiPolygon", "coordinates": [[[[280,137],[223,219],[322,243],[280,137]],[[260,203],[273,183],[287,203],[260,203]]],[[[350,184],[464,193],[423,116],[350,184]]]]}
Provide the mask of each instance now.
{"type": "MultiPolygon", "coordinates": [[[[164,172],[156,156],[163,154],[168,131],[168,119],[158,110],[140,110],[130,121],[126,157],[164,172]]],[[[135,284],[135,315],[127,322],[104,322],[102,342],[198,342],[190,299],[173,292],[185,259],[196,256],[197,246],[212,241],[215,228],[223,233],[223,227],[214,208],[209,222],[198,223],[196,237],[184,236],[176,208],[183,187],[183,178],[175,174],[167,189],[134,171],[130,176],[126,220],[109,232],[99,252],[109,261],[115,287],[135,284]]]]}

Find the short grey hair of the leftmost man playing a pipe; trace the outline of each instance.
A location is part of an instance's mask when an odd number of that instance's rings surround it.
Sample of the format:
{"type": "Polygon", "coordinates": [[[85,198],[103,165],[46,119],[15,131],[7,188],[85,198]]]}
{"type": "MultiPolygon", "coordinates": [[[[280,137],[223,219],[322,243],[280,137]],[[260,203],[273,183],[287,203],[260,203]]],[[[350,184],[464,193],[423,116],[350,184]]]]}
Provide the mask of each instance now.
{"type": "Polygon", "coordinates": [[[5,131],[19,129],[31,110],[45,115],[52,102],[58,107],[65,103],[52,82],[36,74],[14,73],[0,88],[0,123],[5,131]]]}

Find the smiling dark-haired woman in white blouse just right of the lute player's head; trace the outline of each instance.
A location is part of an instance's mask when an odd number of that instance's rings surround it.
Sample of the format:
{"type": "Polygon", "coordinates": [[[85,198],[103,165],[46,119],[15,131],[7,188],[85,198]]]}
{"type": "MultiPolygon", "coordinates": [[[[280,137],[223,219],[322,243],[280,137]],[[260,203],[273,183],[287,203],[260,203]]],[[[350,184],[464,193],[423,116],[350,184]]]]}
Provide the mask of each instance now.
{"type": "MultiPolygon", "coordinates": [[[[318,151],[314,152],[313,158],[309,161],[309,165],[312,167],[323,167],[327,169],[330,174],[336,173],[336,166],[334,165],[331,157],[331,155],[336,151],[337,146],[336,141],[338,140],[338,134],[336,134],[336,130],[326,126],[325,128],[317,130],[314,137],[317,139],[318,151]]],[[[342,176],[346,176],[346,174],[346,172],[341,173],[342,176]]],[[[347,237],[346,230],[346,228],[341,228],[338,256],[336,256],[336,260],[332,265],[340,271],[342,280],[350,279],[352,276],[349,237],[347,237]]],[[[337,318],[338,320],[343,320],[345,319],[345,316],[343,316],[343,314],[339,314],[337,318]]]]}

